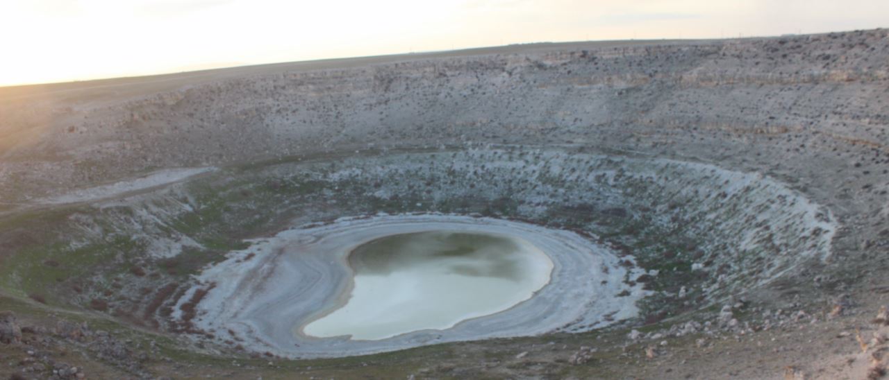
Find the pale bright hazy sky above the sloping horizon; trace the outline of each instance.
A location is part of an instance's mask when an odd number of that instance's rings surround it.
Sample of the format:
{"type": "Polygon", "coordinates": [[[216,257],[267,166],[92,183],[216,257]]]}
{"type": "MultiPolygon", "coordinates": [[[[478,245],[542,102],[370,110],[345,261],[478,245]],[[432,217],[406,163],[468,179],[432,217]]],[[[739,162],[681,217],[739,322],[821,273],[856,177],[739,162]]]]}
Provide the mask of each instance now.
{"type": "Polygon", "coordinates": [[[0,86],[503,44],[889,28],[886,0],[0,0],[0,86]]]}

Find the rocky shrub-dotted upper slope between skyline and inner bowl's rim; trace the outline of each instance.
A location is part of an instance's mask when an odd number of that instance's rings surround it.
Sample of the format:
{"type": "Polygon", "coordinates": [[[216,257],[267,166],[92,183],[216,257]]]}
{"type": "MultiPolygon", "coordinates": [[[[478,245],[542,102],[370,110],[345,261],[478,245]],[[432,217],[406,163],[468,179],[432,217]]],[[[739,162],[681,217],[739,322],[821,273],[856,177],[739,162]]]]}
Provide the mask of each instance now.
{"type": "Polygon", "coordinates": [[[867,164],[871,157],[857,155],[871,151],[885,163],[887,54],[877,29],[543,44],[3,89],[0,189],[14,202],[156,168],[469,143],[720,162],[743,155],[757,169],[796,161],[787,156],[867,164]],[[757,152],[744,154],[749,146],[757,152]]]}

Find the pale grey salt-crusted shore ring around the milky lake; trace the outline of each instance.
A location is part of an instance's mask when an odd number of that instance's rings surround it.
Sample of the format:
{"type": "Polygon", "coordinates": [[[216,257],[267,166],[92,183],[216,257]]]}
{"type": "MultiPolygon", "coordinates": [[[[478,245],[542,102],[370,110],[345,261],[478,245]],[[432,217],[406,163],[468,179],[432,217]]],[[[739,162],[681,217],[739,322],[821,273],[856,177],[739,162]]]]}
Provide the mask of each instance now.
{"type": "MultiPolygon", "coordinates": [[[[621,266],[612,251],[589,238],[525,223],[437,214],[342,218],[258,239],[250,249],[231,252],[228,260],[206,268],[198,282],[219,285],[197,305],[201,313],[195,323],[201,329],[230,331],[220,333],[219,339],[236,337],[254,351],[291,358],[353,356],[557,330],[576,332],[637,315],[635,302],[645,296],[645,290],[641,284],[623,283],[628,270],[638,271],[621,266]],[[522,236],[552,261],[550,281],[509,309],[461,321],[450,329],[424,329],[373,341],[296,334],[299,327],[341,302],[351,279],[345,259],[357,245],[380,236],[435,229],[522,236]],[[272,255],[276,249],[283,249],[283,254],[272,255]],[[255,257],[243,260],[250,253],[255,257]],[[624,291],[629,297],[616,297],[624,291]],[[231,332],[233,336],[228,336],[231,332]]],[[[641,272],[631,274],[635,278],[641,272]]]]}

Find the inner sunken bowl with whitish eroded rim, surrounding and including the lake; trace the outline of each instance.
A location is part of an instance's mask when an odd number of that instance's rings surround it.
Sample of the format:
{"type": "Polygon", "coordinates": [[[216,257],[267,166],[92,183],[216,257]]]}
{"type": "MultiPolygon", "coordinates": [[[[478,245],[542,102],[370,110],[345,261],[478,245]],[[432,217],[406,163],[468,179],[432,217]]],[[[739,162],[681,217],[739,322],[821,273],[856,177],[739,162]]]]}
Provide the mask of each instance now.
{"type": "Polygon", "coordinates": [[[218,347],[340,357],[693,313],[828,259],[837,231],[764,173],[547,146],[202,172],[38,216],[63,241],[2,278],[218,347]]]}

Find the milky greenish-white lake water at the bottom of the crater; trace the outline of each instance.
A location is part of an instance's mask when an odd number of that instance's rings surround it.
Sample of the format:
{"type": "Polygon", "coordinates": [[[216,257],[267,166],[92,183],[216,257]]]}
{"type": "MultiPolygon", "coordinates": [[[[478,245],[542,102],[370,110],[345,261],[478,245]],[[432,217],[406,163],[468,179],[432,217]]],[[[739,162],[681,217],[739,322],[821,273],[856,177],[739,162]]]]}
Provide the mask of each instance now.
{"type": "Polygon", "coordinates": [[[497,234],[396,234],[354,249],[345,305],[309,323],[308,336],[375,340],[507,310],[549,282],[553,263],[531,243],[497,234]]]}

